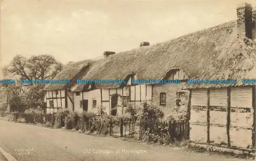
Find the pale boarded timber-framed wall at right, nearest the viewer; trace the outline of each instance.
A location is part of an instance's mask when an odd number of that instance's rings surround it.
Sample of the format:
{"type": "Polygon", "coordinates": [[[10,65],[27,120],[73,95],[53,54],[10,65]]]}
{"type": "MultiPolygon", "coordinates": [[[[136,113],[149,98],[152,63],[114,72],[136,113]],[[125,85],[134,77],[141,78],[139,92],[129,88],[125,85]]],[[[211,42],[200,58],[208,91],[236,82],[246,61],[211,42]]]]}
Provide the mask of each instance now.
{"type": "MultiPolygon", "coordinates": [[[[227,88],[209,90],[195,89],[191,94],[190,140],[207,142],[207,109],[209,109],[209,142],[227,145],[227,88]]],[[[233,87],[230,89],[230,145],[247,148],[252,145],[251,127],[253,124],[252,87],[233,87]],[[243,136],[243,137],[241,137],[243,136]]]]}

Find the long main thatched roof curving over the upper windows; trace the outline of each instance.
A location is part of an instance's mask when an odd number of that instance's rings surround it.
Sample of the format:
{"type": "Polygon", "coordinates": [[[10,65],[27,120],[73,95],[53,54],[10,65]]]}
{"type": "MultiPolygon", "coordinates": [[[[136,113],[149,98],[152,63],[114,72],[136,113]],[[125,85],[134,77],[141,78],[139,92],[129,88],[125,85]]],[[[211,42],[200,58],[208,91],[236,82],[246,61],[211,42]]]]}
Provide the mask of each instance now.
{"type": "MultiPolygon", "coordinates": [[[[136,73],[137,79],[162,79],[172,68],[182,68],[189,78],[197,79],[254,78],[255,42],[238,39],[236,29],[236,21],[231,21],[166,42],[120,52],[99,60],[83,79],[124,79],[131,73],[136,73]]],[[[118,86],[96,84],[97,88],[118,86]]],[[[77,85],[74,90],[80,91],[83,87],[77,85]]]]}

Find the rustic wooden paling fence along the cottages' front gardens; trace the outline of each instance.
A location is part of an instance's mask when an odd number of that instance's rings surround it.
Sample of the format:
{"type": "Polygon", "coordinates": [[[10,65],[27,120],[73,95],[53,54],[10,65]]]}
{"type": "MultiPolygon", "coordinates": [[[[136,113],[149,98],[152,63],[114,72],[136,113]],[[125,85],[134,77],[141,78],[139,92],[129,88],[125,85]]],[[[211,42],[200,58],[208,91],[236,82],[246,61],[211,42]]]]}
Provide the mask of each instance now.
{"type": "MultiPolygon", "coordinates": [[[[56,114],[25,114],[14,113],[13,119],[19,122],[26,123],[41,123],[50,122],[54,125],[56,114]],[[23,121],[22,121],[23,120],[23,121]]],[[[63,118],[64,119],[64,118],[63,118]]],[[[60,119],[60,125],[64,123],[63,119],[60,119]],[[61,123],[62,122],[62,123],[61,123]]],[[[188,124],[187,121],[163,121],[161,119],[150,119],[147,117],[141,118],[107,118],[102,116],[93,116],[90,118],[84,118],[77,116],[72,122],[64,124],[67,129],[75,128],[88,133],[97,133],[102,135],[113,135],[120,132],[120,137],[135,138],[135,136],[143,140],[148,134],[158,135],[159,137],[168,136],[170,140],[181,141],[187,139],[188,124]],[[120,131],[113,132],[113,128],[120,128],[120,131]],[[116,133],[117,132],[117,133],[116,133]]],[[[63,126],[63,125],[61,125],[63,126]]],[[[116,129],[115,128],[115,129],[116,129]]]]}

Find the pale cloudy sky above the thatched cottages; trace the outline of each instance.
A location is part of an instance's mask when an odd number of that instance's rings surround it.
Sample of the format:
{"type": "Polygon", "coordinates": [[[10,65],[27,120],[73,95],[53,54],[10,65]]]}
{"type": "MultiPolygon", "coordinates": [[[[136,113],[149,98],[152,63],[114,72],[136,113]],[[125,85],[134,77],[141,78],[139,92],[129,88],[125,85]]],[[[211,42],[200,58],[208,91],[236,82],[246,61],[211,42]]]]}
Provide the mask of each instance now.
{"type": "MultiPolygon", "coordinates": [[[[1,59],[49,54],[69,61],[98,59],[236,20],[240,0],[2,0],[1,59]]],[[[246,1],[256,7],[255,0],[246,1]]]]}

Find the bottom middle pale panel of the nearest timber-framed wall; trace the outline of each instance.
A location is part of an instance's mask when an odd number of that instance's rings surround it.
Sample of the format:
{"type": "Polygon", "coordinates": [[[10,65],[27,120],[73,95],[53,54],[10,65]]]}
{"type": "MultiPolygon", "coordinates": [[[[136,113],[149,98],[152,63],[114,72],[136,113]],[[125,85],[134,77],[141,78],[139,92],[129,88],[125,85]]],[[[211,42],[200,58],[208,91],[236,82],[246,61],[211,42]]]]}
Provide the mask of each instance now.
{"type": "Polygon", "coordinates": [[[210,141],[214,141],[214,144],[227,144],[227,128],[219,126],[210,126],[210,141]]]}

